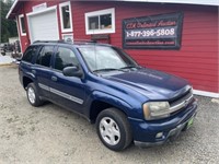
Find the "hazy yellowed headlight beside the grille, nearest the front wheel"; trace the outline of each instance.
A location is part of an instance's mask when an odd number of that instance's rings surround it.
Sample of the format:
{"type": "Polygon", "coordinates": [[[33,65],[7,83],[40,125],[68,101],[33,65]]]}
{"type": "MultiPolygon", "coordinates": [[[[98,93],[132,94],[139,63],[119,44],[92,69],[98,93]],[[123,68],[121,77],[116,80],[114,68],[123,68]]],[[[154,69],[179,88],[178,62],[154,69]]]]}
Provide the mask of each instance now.
{"type": "Polygon", "coordinates": [[[170,116],[170,104],[168,102],[145,103],[143,115],[147,120],[168,117],[170,116]]]}

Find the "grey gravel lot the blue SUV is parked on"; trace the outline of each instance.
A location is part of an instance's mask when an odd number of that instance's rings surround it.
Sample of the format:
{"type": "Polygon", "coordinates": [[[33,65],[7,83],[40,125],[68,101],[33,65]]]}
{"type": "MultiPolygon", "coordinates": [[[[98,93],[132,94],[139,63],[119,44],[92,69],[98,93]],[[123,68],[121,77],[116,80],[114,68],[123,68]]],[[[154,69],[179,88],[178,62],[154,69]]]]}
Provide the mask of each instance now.
{"type": "Polygon", "coordinates": [[[94,125],[54,104],[32,107],[18,67],[0,67],[0,164],[13,163],[219,163],[219,104],[197,96],[193,127],[174,142],[155,148],[106,149],[94,125]]]}

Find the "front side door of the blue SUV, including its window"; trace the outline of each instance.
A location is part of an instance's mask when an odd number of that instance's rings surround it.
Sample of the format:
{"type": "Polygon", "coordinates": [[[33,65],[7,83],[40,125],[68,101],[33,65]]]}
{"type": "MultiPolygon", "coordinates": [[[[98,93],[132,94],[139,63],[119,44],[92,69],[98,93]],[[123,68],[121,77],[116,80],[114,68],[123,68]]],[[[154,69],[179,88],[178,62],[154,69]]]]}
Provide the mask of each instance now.
{"type": "Polygon", "coordinates": [[[64,75],[64,68],[70,66],[79,67],[76,54],[70,48],[57,47],[54,58],[54,72],[50,77],[51,98],[55,103],[82,113],[84,83],[80,78],[64,75]]]}

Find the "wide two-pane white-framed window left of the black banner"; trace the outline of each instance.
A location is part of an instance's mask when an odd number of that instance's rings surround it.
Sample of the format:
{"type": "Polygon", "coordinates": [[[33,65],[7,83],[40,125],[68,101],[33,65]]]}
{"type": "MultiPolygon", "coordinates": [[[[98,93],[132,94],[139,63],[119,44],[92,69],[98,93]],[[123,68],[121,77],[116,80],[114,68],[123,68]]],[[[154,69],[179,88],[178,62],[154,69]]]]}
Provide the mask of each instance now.
{"type": "Polygon", "coordinates": [[[85,33],[115,33],[115,9],[106,9],[85,13],[85,33]]]}

